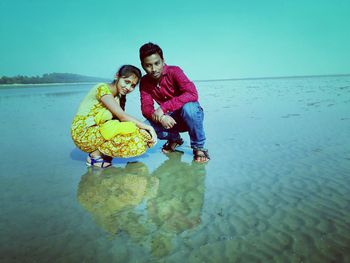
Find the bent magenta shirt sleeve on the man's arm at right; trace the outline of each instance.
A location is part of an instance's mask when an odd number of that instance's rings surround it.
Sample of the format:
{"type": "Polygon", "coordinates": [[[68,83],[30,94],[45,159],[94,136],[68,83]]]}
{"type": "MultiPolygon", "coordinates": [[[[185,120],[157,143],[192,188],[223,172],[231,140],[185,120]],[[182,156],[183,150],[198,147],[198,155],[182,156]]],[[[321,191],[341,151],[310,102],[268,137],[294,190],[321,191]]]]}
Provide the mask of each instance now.
{"type": "Polygon", "coordinates": [[[181,68],[174,68],[174,72],[172,72],[172,79],[175,85],[179,88],[181,94],[166,102],[163,102],[160,105],[160,108],[164,113],[178,110],[187,102],[194,102],[198,100],[196,86],[187,78],[181,68]]]}

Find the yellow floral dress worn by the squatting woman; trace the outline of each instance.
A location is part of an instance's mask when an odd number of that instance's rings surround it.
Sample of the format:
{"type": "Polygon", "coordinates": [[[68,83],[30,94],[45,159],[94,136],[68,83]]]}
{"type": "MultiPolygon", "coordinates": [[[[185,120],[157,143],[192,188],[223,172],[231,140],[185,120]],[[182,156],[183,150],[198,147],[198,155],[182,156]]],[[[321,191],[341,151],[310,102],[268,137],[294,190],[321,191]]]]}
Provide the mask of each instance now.
{"type": "MultiPolygon", "coordinates": [[[[108,84],[93,87],[81,102],[71,126],[75,145],[84,152],[99,150],[111,157],[133,157],[143,154],[150,139],[145,130],[132,122],[119,122],[100,99],[111,94],[108,84]]],[[[115,100],[119,103],[119,97],[115,100]]]]}

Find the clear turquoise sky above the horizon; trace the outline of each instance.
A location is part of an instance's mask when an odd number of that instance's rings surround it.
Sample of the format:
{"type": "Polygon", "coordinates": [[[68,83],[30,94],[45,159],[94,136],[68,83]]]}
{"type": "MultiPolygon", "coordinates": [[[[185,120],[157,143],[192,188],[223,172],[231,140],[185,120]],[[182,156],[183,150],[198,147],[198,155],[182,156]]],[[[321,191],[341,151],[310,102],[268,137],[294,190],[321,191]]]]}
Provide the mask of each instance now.
{"type": "Polygon", "coordinates": [[[0,0],[0,76],[112,77],[159,44],[192,79],[350,73],[349,0],[0,0]]]}

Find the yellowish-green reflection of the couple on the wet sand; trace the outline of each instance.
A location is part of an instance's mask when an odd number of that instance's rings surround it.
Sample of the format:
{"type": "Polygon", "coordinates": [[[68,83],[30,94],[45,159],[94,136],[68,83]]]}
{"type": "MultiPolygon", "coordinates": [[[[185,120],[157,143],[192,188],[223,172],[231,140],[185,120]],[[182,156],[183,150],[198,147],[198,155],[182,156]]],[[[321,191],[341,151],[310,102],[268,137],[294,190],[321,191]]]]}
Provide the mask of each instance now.
{"type": "Polygon", "coordinates": [[[199,225],[203,206],[205,166],[182,162],[182,154],[167,154],[151,174],[140,162],[88,168],[78,200],[106,231],[125,232],[154,256],[165,256],[177,234],[199,225]]]}

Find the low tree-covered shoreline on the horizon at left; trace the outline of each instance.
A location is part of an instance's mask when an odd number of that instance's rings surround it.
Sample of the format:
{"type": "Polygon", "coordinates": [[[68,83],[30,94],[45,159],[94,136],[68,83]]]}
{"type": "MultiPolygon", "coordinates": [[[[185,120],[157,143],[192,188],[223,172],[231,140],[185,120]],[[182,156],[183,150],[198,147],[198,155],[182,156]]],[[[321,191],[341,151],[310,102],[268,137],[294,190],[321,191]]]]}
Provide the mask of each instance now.
{"type": "Polygon", "coordinates": [[[106,81],[103,78],[83,76],[73,73],[46,73],[42,76],[23,76],[14,77],[2,76],[0,84],[43,84],[43,83],[74,83],[74,82],[99,82],[106,81]]]}

